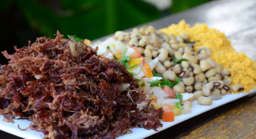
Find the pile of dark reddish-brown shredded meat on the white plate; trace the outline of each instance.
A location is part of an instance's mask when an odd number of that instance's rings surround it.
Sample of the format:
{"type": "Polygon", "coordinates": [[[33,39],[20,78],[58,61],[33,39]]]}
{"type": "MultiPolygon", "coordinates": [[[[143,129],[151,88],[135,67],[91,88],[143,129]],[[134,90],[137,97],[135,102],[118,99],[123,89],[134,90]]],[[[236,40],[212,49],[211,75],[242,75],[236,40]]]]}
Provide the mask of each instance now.
{"type": "Polygon", "coordinates": [[[122,63],[71,39],[57,31],[55,39],[2,52],[10,59],[0,70],[3,121],[29,119],[27,129],[44,138],[115,138],[130,127],[162,127],[162,108],[150,105],[122,63]],[[124,91],[123,84],[129,84],[124,91]]]}

